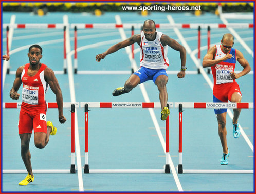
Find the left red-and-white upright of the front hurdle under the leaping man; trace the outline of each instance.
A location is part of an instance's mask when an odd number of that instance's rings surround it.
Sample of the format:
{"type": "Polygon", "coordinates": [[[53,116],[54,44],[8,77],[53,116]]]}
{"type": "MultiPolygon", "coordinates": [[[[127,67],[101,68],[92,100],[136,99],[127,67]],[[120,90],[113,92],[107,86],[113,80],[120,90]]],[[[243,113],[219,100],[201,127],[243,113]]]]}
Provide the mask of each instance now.
{"type": "Polygon", "coordinates": [[[89,163],[88,163],[88,104],[84,105],[84,130],[85,130],[85,164],[84,164],[84,173],[89,173],[89,163]]]}

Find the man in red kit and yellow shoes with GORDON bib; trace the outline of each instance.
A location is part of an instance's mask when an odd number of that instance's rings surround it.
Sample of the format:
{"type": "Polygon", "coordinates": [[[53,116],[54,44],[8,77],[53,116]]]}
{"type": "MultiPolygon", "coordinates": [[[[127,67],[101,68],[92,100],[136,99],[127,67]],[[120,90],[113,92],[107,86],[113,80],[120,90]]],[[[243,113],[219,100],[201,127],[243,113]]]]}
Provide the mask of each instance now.
{"type": "Polygon", "coordinates": [[[17,100],[20,97],[18,90],[23,83],[22,106],[19,117],[19,135],[21,138],[21,156],[28,171],[27,177],[19,185],[27,185],[34,181],[31,166],[31,154],[29,152],[29,141],[34,129],[34,144],[37,148],[44,148],[49,136],[55,135],[57,128],[51,121],[46,122],[46,101],[45,93],[50,86],[56,95],[56,102],[59,110],[59,121],[65,123],[63,116],[63,99],[59,83],[54,72],[45,64],[40,62],[42,48],[39,45],[32,45],[28,50],[29,63],[21,66],[16,71],[16,78],[10,91],[10,97],[17,100]]]}

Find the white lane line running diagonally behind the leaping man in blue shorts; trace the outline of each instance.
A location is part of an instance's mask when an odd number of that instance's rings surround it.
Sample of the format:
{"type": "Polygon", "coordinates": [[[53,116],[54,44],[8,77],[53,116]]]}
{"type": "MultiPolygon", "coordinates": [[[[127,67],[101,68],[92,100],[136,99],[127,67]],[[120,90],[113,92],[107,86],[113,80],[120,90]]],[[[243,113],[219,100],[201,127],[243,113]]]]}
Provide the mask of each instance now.
{"type": "MultiPolygon", "coordinates": [[[[119,15],[116,15],[116,16],[115,16],[115,19],[116,19],[116,23],[117,23],[117,24],[121,24],[121,23],[122,23],[122,22],[121,22],[121,18],[120,18],[119,15]]],[[[127,39],[123,28],[119,28],[119,32],[120,32],[121,37],[122,37],[123,40],[127,39]]],[[[127,53],[128,56],[129,56],[130,61],[132,62],[132,67],[133,67],[134,71],[136,71],[136,70],[138,69],[138,67],[137,67],[137,65],[136,65],[135,60],[132,59],[131,48],[130,48],[130,47],[125,47],[125,50],[126,50],[126,53],[127,53]]],[[[150,102],[150,99],[149,99],[148,93],[147,93],[147,91],[146,91],[146,89],[145,89],[145,87],[144,87],[144,84],[143,84],[143,83],[142,83],[142,84],[139,84],[139,87],[140,87],[140,90],[141,90],[141,92],[142,92],[142,95],[143,95],[143,97],[144,97],[145,102],[150,102]]],[[[153,120],[153,123],[154,123],[154,125],[155,125],[156,132],[157,132],[158,137],[159,137],[159,139],[160,139],[162,148],[163,148],[163,150],[164,150],[164,152],[165,152],[166,143],[165,143],[165,141],[164,141],[163,135],[162,135],[161,130],[160,130],[160,126],[159,126],[158,121],[157,121],[157,119],[156,119],[155,112],[153,111],[153,109],[149,109],[149,112],[150,112],[151,118],[152,118],[152,120],[153,120]]],[[[175,169],[174,164],[173,164],[173,162],[172,162],[172,159],[171,159],[171,157],[170,157],[170,154],[168,154],[168,157],[169,157],[169,164],[170,164],[171,172],[172,172],[172,175],[173,175],[173,177],[174,177],[175,183],[176,183],[176,185],[177,185],[177,187],[178,187],[178,190],[179,190],[179,191],[183,191],[183,189],[182,189],[182,187],[181,187],[181,184],[180,184],[180,181],[179,181],[179,178],[178,178],[178,175],[177,175],[177,173],[176,173],[176,169],[175,169]]]]}

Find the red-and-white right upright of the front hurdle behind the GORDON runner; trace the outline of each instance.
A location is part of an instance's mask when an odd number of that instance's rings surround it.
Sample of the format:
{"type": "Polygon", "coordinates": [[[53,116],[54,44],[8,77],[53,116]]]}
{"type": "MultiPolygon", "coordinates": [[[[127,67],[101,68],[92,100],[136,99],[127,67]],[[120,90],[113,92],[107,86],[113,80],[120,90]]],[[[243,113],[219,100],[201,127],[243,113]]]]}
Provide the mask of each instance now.
{"type": "Polygon", "coordinates": [[[75,165],[75,104],[71,104],[71,167],[70,173],[76,173],[75,165]]]}

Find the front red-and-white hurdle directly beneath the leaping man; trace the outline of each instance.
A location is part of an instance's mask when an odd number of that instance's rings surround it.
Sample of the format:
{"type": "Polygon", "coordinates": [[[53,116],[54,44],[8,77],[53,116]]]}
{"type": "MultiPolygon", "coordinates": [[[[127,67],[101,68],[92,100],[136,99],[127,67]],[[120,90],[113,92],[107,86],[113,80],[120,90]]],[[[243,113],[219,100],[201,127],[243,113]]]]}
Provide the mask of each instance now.
{"type": "MultiPolygon", "coordinates": [[[[169,116],[166,119],[166,164],[164,169],[89,169],[88,163],[88,112],[89,108],[161,108],[160,102],[81,102],[80,107],[84,107],[85,112],[85,164],[84,173],[170,173],[169,164],[169,116]]],[[[167,104],[173,107],[173,103],[167,104]]]]}

